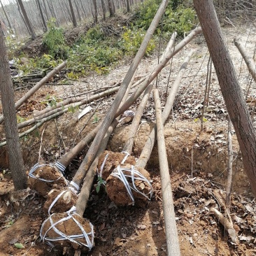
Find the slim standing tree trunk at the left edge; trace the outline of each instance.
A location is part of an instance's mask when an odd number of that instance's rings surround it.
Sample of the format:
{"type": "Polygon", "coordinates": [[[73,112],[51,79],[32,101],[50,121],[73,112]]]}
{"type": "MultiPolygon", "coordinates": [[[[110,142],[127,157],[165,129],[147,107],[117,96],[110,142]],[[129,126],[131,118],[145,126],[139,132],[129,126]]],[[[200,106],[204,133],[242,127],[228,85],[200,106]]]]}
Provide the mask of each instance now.
{"type": "Polygon", "coordinates": [[[15,190],[27,187],[27,175],[22,159],[22,150],[17,131],[17,118],[15,111],[13,83],[10,77],[6,45],[3,40],[3,29],[0,22],[0,91],[4,117],[4,129],[9,153],[10,173],[13,177],[15,190]]]}

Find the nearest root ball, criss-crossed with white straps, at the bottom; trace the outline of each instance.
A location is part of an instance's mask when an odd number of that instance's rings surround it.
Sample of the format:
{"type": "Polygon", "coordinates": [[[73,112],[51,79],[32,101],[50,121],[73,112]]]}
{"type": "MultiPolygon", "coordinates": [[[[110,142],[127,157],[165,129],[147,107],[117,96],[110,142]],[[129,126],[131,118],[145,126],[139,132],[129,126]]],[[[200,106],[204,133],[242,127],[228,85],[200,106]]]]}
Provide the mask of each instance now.
{"type": "Polygon", "coordinates": [[[75,213],[74,209],[72,213],[50,215],[42,224],[41,239],[62,248],[72,246],[75,250],[91,250],[94,246],[93,225],[75,213]]]}

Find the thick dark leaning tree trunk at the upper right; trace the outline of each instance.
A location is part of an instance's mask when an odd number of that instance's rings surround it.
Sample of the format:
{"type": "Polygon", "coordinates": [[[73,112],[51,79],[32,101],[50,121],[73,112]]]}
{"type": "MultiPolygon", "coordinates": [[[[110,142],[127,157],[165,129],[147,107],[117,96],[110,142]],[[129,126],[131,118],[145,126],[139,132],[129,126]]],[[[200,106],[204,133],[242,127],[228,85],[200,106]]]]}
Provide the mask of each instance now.
{"type": "Polygon", "coordinates": [[[229,56],[225,38],[215,13],[212,0],[194,0],[194,6],[203,29],[215,71],[220,83],[222,96],[230,119],[236,131],[243,156],[243,168],[248,175],[250,186],[256,196],[256,133],[253,122],[239,86],[232,59],[229,56]]]}

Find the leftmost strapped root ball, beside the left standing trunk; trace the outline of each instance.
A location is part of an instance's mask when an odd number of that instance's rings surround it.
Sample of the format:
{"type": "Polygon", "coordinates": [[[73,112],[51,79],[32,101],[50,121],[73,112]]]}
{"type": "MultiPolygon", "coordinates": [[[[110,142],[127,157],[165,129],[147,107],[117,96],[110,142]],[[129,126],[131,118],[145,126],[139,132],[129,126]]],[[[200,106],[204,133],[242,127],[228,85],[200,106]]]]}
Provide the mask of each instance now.
{"type": "Polygon", "coordinates": [[[29,171],[29,187],[46,197],[54,187],[67,187],[63,174],[52,164],[36,164],[29,171]]]}

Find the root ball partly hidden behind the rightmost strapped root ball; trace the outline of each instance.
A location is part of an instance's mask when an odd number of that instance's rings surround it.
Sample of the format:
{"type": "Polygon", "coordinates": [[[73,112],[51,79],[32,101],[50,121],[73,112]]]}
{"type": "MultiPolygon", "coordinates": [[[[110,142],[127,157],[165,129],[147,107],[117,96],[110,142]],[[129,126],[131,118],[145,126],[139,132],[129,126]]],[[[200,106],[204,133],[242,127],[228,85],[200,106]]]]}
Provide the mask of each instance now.
{"type": "Polygon", "coordinates": [[[99,176],[101,176],[104,180],[111,175],[112,171],[122,163],[125,159],[125,164],[136,164],[135,157],[131,155],[127,155],[126,152],[112,152],[112,151],[104,151],[99,157],[98,162],[98,170],[99,176]],[[125,158],[126,157],[126,158],[125,158]]]}

